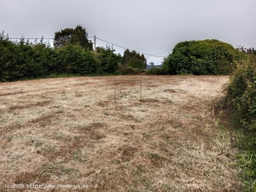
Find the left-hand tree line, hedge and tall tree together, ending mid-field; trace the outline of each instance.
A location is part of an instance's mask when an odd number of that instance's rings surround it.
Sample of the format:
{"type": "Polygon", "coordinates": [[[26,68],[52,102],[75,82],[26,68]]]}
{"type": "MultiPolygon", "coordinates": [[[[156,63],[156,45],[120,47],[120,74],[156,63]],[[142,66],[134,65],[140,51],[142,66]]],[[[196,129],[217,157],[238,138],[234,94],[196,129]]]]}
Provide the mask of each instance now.
{"type": "Polygon", "coordinates": [[[38,42],[12,41],[0,33],[0,81],[33,79],[52,74],[134,74],[145,70],[144,55],[126,50],[123,57],[110,46],[97,47],[88,40],[81,26],[65,28],[54,34],[54,47],[38,42]]]}

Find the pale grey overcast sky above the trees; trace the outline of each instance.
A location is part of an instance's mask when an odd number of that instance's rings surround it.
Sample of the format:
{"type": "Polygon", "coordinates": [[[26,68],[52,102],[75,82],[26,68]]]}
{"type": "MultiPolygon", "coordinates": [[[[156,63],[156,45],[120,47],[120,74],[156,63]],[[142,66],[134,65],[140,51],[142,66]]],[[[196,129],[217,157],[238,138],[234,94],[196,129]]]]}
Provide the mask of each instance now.
{"type": "MultiPolygon", "coordinates": [[[[76,25],[89,35],[159,56],[184,40],[256,47],[256,0],[0,0],[0,30],[9,37],[52,38],[76,25]]],[[[146,58],[155,64],[162,60],[146,58]]]]}

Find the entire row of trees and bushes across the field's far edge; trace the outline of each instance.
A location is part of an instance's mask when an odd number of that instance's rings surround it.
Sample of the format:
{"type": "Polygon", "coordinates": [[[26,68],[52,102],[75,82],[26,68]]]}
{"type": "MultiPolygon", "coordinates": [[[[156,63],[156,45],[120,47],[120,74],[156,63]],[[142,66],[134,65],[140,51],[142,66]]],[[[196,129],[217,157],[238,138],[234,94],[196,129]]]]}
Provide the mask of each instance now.
{"type": "MultiPolygon", "coordinates": [[[[49,43],[13,42],[0,34],[0,81],[32,79],[52,74],[138,74],[145,72],[143,54],[126,49],[121,56],[110,46],[97,47],[88,40],[82,26],[65,28],[54,33],[54,47],[49,43]]],[[[219,40],[192,40],[178,43],[162,62],[162,67],[146,70],[148,75],[160,74],[230,74],[239,60],[256,54],[254,48],[234,48],[219,40]]]]}

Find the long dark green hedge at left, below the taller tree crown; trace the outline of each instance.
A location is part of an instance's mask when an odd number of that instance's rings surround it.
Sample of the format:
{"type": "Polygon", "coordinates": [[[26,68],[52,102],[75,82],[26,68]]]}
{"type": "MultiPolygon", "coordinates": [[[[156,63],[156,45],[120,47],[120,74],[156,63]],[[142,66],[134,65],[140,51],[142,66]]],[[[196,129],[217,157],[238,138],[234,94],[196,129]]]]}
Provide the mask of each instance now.
{"type": "Polygon", "coordinates": [[[0,81],[32,79],[58,74],[116,73],[120,54],[109,47],[97,48],[98,53],[79,44],[53,48],[40,42],[13,42],[0,34],[0,81]]]}

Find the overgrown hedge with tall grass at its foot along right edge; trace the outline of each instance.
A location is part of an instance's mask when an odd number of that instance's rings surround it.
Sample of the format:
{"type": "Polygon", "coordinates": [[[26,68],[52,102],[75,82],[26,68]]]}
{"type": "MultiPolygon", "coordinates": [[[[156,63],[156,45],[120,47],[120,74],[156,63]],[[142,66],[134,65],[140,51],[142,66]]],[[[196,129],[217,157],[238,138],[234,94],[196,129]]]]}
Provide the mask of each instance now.
{"type": "Polygon", "coordinates": [[[237,64],[226,90],[225,106],[241,149],[238,158],[245,191],[256,191],[256,56],[250,54],[237,64]]]}

